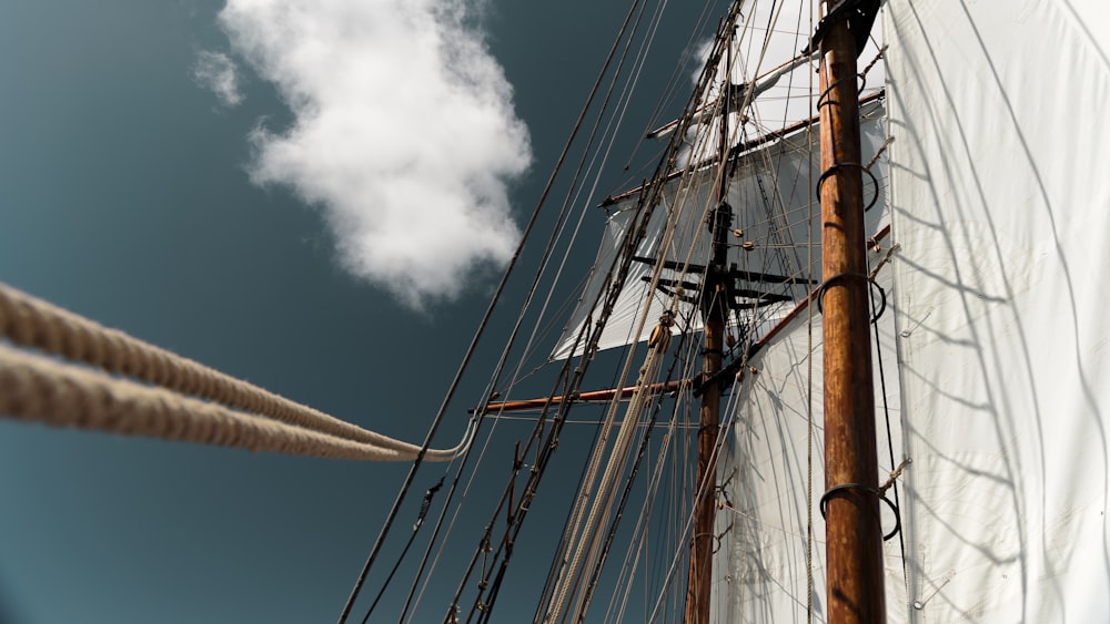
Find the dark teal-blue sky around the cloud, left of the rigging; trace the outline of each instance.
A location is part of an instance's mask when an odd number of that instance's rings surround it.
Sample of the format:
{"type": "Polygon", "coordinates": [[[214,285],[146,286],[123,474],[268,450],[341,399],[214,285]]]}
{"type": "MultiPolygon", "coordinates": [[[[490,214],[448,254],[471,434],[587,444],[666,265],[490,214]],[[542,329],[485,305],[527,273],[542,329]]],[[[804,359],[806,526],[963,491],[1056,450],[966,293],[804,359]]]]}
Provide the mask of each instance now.
{"type": "MultiPolygon", "coordinates": [[[[633,130],[646,123],[696,19],[674,14],[688,9],[675,4],[665,25],[679,25],[679,33],[658,41],[660,64],[642,79],[645,110],[628,122],[633,130]]],[[[0,6],[0,280],[340,418],[420,441],[495,278],[482,273],[457,300],[413,311],[336,263],[320,207],[285,187],[252,184],[248,134],[261,117],[280,129],[291,113],[273,85],[250,72],[246,98],[234,108],[192,78],[200,51],[228,50],[216,24],[221,7],[0,6]]],[[[488,7],[487,42],[532,137],[534,164],[509,185],[519,224],[625,10],[593,2],[488,7]]],[[[413,205],[418,209],[418,197],[413,205]]],[[[602,215],[591,222],[599,226],[602,215]]],[[[491,347],[476,368],[495,356],[491,347]]],[[[454,444],[484,381],[482,374],[468,378],[436,446],[454,444]]],[[[506,438],[524,434],[522,426],[506,438]]],[[[0,617],[333,621],[406,470],[0,421],[0,617]]],[[[417,490],[440,473],[423,471],[417,490]]],[[[480,487],[488,491],[472,498],[495,497],[502,487],[480,487]]],[[[417,504],[418,492],[402,528],[417,504]]],[[[487,520],[481,505],[470,511],[472,523],[487,520]]],[[[561,529],[557,515],[532,522],[525,536],[561,529]]],[[[383,560],[392,562],[402,543],[394,539],[383,560]]],[[[542,583],[547,559],[528,561],[535,553],[524,552],[514,565],[542,583]]],[[[468,554],[464,548],[448,556],[468,554]]],[[[527,599],[506,595],[495,620],[531,616],[527,599]]]]}

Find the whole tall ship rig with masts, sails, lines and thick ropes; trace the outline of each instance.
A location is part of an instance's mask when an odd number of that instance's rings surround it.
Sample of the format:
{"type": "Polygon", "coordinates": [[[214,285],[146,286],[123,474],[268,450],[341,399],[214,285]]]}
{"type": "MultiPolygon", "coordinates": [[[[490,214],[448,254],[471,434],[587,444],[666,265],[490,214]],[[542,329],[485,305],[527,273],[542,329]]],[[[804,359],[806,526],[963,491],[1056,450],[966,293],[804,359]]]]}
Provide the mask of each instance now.
{"type": "Polygon", "coordinates": [[[0,413],[412,461],[341,624],[1110,621],[1104,2],[791,4],[699,20],[633,175],[632,3],[422,446],[7,286],[0,413]]]}

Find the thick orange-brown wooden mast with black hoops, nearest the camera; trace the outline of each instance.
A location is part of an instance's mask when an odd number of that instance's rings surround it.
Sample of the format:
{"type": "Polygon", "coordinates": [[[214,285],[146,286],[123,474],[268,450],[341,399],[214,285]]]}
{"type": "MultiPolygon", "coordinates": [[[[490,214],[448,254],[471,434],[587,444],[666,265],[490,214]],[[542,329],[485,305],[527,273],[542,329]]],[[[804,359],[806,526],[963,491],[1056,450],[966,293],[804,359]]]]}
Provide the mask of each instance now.
{"type": "MultiPolygon", "coordinates": [[[[825,0],[829,14],[834,0],[825,0]]],[[[821,39],[821,266],[825,279],[826,574],[829,624],[886,621],[875,450],[856,42],[837,20],[821,39]],[[848,487],[844,487],[851,484],[848,487]],[[836,491],[833,488],[841,487],[836,491]]]]}

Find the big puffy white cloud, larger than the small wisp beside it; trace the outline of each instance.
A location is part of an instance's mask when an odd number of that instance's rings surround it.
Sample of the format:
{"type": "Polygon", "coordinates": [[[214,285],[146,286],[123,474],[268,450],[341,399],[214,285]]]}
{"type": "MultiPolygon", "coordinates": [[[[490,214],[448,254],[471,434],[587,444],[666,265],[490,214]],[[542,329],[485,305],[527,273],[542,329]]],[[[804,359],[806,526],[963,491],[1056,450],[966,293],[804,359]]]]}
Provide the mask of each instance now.
{"type": "Polygon", "coordinates": [[[324,207],[344,267],[420,308],[503,264],[506,181],[531,162],[512,88],[465,0],[229,0],[232,48],[291,126],[251,134],[258,184],[324,207]]]}

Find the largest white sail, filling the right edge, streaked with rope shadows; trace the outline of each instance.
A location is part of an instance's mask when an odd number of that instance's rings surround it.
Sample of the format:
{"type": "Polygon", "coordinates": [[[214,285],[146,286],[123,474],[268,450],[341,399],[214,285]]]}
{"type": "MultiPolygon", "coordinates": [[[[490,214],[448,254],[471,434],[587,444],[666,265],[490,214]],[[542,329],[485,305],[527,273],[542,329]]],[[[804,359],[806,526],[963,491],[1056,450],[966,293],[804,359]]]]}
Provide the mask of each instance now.
{"type": "MultiPolygon", "coordinates": [[[[1110,621],[1104,0],[891,0],[918,622],[1110,621]]],[[[916,605],[916,606],[915,606],[916,605]]]]}

